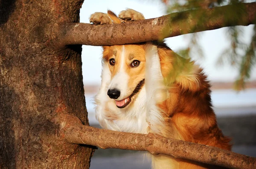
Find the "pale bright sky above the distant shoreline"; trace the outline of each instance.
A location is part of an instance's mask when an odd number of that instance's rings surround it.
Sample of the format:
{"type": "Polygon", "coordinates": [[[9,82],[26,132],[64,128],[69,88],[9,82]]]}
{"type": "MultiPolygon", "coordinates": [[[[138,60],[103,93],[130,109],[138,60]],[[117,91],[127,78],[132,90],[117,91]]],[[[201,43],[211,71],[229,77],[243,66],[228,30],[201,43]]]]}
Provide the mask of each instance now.
{"type": "MultiPolygon", "coordinates": [[[[111,9],[116,14],[125,8],[132,8],[143,13],[146,19],[160,17],[166,14],[166,8],[160,0],[84,0],[80,11],[80,22],[89,23],[89,17],[94,12],[107,12],[111,9]]],[[[242,40],[249,42],[253,26],[240,26],[243,29],[242,40]]],[[[192,59],[204,68],[209,80],[218,82],[232,82],[238,76],[238,68],[231,67],[228,63],[217,66],[216,62],[222,50],[230,45],[226,38],[227,28],[198,33],[200,36],[204,58],[193,54],[192,59]]],[[[166,39],[167,45],[173,51],[185,48],[189,43],[191,35],[181,35],[166,39]]],[[[82,50],[82,71],[84,85],[99,85],[101,82],[101,57],[102,48],[99,46],[83,45],[82,50]]],[[[256,68],[251,73],[251,80],[256,80],[256,68]]]]}

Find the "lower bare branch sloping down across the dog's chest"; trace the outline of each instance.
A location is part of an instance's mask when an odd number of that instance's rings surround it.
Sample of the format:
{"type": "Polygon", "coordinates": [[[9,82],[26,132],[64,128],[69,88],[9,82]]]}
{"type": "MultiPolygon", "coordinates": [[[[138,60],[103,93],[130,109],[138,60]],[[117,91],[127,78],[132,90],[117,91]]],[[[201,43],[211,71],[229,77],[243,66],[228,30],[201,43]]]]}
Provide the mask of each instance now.
{"type": "Polygon", "coordinates": [[[116,132],[78,124],[66,125],[62,129],[64,138],[72,144],[87,144],[102,149],[148,151],[153,155],[165,154],[174,158],[189,159],[228,168],[253,169],[256,167],[256,158],[212,146],[164,138],[152,133],[116,132]]]}

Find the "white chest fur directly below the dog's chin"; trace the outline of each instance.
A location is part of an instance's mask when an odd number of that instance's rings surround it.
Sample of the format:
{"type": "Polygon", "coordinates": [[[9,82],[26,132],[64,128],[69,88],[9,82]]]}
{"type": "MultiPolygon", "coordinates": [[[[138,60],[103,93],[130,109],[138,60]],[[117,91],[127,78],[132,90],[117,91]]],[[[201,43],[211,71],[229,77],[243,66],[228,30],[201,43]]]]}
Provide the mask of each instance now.
{"type": "MultiPolygon", "coordinates": [[[[101,87],[104,90],[106,87],[101,87]]],[[[110,130],[122,132],[147,133],[146,93],[142,87],[131,107],[119,109],[113,99],[109,99],[106,89],[96,95],[96,118],[99,124],[110,130]]]]}

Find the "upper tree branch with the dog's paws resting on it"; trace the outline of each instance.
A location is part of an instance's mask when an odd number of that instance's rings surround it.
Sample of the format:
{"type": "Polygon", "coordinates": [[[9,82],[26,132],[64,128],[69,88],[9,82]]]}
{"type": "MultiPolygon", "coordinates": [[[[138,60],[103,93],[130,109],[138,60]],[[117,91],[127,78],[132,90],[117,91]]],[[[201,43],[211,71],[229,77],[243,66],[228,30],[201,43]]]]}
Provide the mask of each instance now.
{"type": "Polygon", "coordinates": [[[91,25],[67,23],[60,26],[61,45],[123,45],[175,37],[227,26],[250,25],[255,21],[256,3],[239,3],[210,9],[172,13],[163,17],[123,24],[91,25]],[[233,9],[233,14],[228,14],[233,9]],[[240,11],[239,14],[237,12],[240,11]],[[235,18],[239,16],[239,18],[235,18]],[[198,20],[199,16],[200,20],[198,20]]]}

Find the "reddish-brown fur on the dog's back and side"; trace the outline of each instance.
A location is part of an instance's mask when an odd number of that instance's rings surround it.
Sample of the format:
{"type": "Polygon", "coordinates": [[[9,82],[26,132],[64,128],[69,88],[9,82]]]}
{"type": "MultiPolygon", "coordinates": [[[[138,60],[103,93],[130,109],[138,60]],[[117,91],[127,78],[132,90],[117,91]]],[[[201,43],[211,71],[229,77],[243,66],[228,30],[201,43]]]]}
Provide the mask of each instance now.
{"type": "MultiPolygon", "coordinates": [[[[163,43],[158,46],[158,54],[162,74],[167,77],[170,72],[175,71],[173,63],[180,56],[174,54],[163,43]]],[[[178,135],[184,141],[231,150],[229,144],[231,139],[225,137],[218,128],[215,113],[212,110],[211,85],[207,81],[207,76],[198,65],[193,64],[192,70],[181,72],[182,75],[178,75],[174,83],[169,84],[170,96],[162,104],[159,104],[166,123],[165,132],[162,134],[165,137],[173,138],[173,126],[175,126],[178,135]]],[[[180,160],[179,166],[180,169],[210,167],[187,160],[180,160]]]]}

